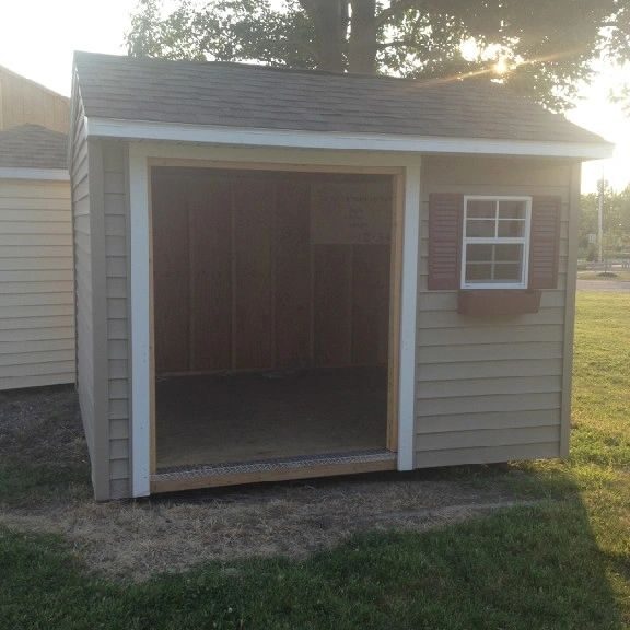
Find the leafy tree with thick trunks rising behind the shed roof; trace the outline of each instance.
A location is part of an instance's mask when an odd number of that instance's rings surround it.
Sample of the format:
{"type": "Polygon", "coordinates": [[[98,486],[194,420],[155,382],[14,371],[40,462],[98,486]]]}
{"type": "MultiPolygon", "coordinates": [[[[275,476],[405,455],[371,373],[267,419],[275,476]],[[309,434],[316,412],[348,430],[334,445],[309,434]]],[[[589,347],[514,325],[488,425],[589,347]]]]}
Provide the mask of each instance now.
{"type": "Polygon", "coordinates": [[[139,0],[126,40],[139,57],[422,79],[500,59],[504,82],[562,109],[594,57],[630,58],[630,0],[139,0]]]}

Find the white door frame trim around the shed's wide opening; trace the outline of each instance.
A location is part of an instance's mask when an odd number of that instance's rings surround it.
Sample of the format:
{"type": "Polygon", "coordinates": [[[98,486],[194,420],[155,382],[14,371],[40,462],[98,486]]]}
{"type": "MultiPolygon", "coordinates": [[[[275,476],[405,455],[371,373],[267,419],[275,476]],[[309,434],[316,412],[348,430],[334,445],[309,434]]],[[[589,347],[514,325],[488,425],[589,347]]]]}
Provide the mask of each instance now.
{"type": "MultiPolygon", "coordinates": [[[[150,160],[211,160],[289,165],[397,167],[405,173],[400,349],[398,378],[398,470],[413,468],[416,399],[416,305],[420,231],[420,156],[351,151],[303,151],[130,142],[129,207],[131,260],[131,468],[132,495],[150,494],[151,470],[151,278],[150,160]]],[[[304,168],[307,170],[307,168],[304,168]]]]}

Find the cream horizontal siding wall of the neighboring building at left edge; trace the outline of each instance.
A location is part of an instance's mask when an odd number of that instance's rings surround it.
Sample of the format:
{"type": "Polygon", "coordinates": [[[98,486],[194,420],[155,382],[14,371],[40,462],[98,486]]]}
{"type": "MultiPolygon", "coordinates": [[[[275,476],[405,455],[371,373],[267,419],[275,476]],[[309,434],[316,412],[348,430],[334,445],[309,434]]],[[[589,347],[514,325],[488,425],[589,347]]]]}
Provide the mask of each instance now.
{"type": "Polygon", "coordinates": [[[0,389],[74,382],[67,182],[0,179],[0,389]]]}

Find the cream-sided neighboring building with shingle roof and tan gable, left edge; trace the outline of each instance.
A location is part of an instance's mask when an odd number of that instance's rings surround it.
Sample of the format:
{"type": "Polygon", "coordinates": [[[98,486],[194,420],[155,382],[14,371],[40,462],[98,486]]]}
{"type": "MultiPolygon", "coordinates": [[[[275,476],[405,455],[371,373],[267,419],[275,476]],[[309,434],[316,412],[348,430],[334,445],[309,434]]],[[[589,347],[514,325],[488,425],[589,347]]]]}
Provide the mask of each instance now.
{"type": "Polygon", "coordinates": [[[0,389],[74,382],[68,120],[68,98],[0,68],[0,389]]]}

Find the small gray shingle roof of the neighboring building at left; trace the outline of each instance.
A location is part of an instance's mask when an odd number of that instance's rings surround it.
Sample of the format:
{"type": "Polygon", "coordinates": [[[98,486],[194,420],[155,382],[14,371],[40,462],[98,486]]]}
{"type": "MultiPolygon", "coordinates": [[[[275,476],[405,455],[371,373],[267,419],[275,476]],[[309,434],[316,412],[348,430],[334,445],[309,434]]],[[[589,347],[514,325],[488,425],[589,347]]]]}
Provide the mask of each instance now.
{"type": "Polygon", "coordinates": [[[0,131],[0,167],[67,168],[68,137],[39,125],[0,131]]]}

